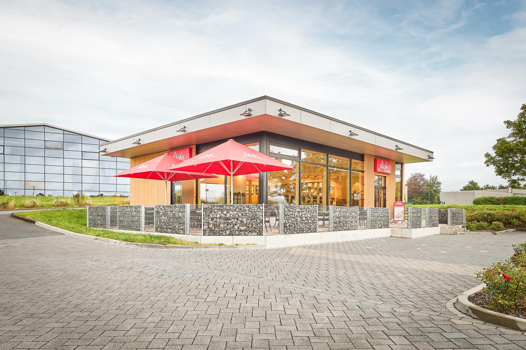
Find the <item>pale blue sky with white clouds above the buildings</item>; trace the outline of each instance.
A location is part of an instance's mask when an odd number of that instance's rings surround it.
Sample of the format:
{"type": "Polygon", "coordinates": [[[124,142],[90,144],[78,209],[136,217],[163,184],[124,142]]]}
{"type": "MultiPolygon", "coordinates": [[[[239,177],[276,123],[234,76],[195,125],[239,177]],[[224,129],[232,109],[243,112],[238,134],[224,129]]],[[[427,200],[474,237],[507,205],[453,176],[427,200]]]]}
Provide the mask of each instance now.
{"type": "Polygon", "coordinates": [[[499,184],[526,103],[526,2],[0,1],[0,123],[118,138],[269,95],[435,152],[408,173],[499,184]]]}

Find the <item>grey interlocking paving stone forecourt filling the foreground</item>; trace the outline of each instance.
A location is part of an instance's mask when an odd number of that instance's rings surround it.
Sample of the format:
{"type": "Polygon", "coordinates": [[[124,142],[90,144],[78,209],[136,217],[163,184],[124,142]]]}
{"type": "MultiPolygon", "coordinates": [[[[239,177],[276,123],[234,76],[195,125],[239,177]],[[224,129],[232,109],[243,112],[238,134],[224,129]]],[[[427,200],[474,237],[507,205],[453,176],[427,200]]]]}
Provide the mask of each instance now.
{"type": "Polygon", "coordinates": [[[446,303],[523,233],[185,251],[0,241],[4,349],[524,349],[446,303]]]}

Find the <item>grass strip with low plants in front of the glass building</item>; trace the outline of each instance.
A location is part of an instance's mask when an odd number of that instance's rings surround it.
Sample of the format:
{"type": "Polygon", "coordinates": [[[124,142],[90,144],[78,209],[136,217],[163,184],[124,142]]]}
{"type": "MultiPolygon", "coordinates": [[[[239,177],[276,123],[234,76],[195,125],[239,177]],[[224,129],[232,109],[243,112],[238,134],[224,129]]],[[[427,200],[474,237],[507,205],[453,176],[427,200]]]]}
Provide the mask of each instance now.
{"type": "MultiPolygon", "coordinates": [[[[87,205],[129,205],[128,197],[86,197],[87,205]]],[[[0,196],[0,209],[77,207],[72,197],[0,196]]]]}

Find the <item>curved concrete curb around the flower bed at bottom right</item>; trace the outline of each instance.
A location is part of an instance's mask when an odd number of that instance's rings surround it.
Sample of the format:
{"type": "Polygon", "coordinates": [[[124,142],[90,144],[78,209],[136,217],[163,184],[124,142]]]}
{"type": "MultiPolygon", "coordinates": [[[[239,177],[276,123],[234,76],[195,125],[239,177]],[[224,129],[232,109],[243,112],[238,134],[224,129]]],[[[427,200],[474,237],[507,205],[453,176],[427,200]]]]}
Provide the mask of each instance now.
{"type": "Polygon", "coordinates": [[[468,300],[469,296],[480,292],[484,287],[485,284],[482,283],[477,285],[477,287],[474,287],[457,296],[457,301],[455,302],[455,307],[457,308],[457,310],[472,317],[473,319],[478,319],[498,326],[511,328],[512,330],[520,332],[526,331],[526,319],[521,319],[520,317],[504,315],[499,312],[487,310],[483,307],[473,304],[468,300]]]}

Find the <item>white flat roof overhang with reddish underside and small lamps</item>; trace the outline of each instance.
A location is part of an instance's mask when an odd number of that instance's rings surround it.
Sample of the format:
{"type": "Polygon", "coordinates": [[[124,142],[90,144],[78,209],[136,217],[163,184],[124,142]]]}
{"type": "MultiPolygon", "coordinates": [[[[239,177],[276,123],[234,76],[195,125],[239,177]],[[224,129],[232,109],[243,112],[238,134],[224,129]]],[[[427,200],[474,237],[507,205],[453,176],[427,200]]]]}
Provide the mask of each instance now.
{"type": "Polygon", "coordinates": [[[429,162],[433,152],[267,96],[100,145],[103,155],[133,158],[176,147],[268,131],[400,163],[429,162]],[[251,116],[242,116],[248,109],[251,116]],[[278,116],[279,109],[289,116],[278,116]],[[185,132],[177,132],[186,126],[185,132]],[[349,136],[349,131],[356,136],[349,136]],[[140,144],[132,144],[140,139],[140,144]],[[402,150],[396,150],[396,146],[402,150]]]}

